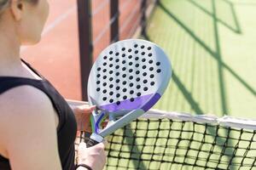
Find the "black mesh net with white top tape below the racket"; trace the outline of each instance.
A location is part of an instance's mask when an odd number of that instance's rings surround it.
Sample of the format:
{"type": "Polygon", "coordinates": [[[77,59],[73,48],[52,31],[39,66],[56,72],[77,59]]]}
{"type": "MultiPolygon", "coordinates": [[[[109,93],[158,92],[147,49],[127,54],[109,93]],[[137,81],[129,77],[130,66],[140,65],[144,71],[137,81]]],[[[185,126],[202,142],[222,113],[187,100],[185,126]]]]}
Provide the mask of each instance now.
{"type": "Polygon", "coordinates": [[[108,137],[105,169],[256,169],[256,121],[151,110],[108,137]]]}

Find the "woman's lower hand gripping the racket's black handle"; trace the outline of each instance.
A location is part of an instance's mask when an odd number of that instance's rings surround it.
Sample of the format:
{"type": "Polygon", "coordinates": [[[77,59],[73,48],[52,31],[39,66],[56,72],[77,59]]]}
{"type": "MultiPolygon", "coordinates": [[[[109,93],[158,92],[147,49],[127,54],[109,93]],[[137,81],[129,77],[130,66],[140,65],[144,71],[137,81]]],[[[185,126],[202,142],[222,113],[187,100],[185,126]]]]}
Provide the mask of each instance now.
{"type": "Polygon", "coordinates": [[[78,165],[86,164],[93,170],[102,170],[106,163],[105,145],[106,143],[96,144],[90,148],[86,148],[84,142],[79,144],[78,165]]]}

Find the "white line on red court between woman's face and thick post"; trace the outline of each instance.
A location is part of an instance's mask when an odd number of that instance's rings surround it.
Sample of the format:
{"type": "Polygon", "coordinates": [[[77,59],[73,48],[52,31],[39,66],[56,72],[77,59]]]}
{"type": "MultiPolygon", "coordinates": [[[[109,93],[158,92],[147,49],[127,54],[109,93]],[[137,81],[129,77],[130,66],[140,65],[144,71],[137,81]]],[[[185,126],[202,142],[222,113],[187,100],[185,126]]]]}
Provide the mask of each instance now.
{"type": "MultiPolygon", "coordinates": [[[[46,28],[44,28],[44,31],[42,33],[42,37],[44,37],[49,31],[53,30],[55,26],[58,26],[61,21],[66,20],[67,17],[73,13],[73,11],[76,11],[77,4],[74,4],[71,8],[68,8],[65,13],[62,13],[60,16],[58,16],[52,23],[50,23],[46,28]]],[[[21,47],[20,52],[24,52],[27,47],[21,47]]]]}

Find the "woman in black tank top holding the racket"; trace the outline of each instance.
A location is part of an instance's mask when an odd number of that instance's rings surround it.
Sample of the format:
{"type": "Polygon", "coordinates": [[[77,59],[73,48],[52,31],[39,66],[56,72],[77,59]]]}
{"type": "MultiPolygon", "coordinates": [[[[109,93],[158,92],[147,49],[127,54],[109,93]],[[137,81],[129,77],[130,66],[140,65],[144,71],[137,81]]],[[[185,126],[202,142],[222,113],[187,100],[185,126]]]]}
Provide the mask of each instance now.
{"type": "MultiPolygon", "coordinates": [[[[60,1],[61,3],[61,1],[60,1]]],[[[48,17],[47,0],[0,0],[0,169],[102,169],[104,144],[79,146],[74,111],[37,71],[20,60],[20,46],[39,42],[48,17]]]]}

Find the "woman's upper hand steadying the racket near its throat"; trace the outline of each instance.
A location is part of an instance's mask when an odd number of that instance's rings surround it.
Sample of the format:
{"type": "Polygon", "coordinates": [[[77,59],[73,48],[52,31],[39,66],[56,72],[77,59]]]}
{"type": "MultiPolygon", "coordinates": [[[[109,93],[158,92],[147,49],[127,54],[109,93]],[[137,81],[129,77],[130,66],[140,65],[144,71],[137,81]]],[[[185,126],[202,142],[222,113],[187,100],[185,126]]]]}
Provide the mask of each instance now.
{"type": "Polygon", "coordinates": [[[96,106],[79,105],[73,107],[73,112],[78,123],[78,131],[90,132],[90,114],[96,106]]]}

